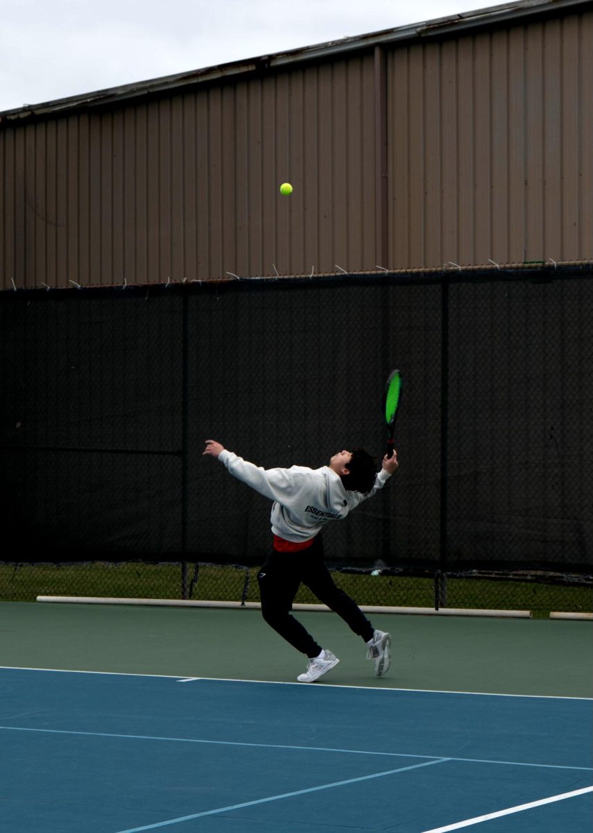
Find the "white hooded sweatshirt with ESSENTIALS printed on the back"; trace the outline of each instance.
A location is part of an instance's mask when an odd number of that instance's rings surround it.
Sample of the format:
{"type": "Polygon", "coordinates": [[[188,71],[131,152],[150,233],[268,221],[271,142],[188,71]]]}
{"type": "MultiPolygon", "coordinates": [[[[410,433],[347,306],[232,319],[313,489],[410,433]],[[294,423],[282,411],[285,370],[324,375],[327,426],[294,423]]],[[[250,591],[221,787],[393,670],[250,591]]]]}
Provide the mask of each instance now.
{"type": "Polygon", "coordinates": [[[345,489],[340,476],[329,466],[263,469],[226,449],[218,459],[237,480],[274,501],[272,532],[295,543],[315,537],[327,521],[345,518],[351,509],[382,489],[390,477],[381,469],[371,491],[363,495],[345,489]]]}

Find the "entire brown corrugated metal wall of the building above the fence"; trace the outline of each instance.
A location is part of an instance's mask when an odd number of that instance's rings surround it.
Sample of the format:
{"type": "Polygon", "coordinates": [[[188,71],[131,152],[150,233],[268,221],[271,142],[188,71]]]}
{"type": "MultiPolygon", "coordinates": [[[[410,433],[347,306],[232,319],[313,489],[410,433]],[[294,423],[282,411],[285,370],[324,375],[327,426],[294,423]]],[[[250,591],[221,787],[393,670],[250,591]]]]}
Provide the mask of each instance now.
{"type": "Polygon", "coordinates": [[[593,12],[5,122],[0,159],[7,288],[593,259],[593,12]]]}

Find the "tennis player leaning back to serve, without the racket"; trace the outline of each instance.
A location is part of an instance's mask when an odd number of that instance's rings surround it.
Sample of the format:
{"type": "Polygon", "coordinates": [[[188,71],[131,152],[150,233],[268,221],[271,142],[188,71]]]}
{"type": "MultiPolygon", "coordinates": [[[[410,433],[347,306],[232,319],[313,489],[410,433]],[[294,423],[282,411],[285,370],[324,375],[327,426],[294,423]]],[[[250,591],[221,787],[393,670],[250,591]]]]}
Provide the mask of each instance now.
{"type": "Polygon", "coordinates": [[[376,676],[383,676],[391,660],[391,636],[376,631],[356,602],[334,584],[323,562],[321,529],[328,521],[341,521],[385,486],[398,466],[396,451],[391,458],[383,458],[378,473],[372,457],[362,449],[339,451],[329,465],[319,469],[263,469],[227,451],[215,440],[206,441],[203,454],[217,458],[238,480],[274,501],[273,549],[257,581],[263,618],[308,658],[306,671],[297,680],[315,682],[339,662],[291,615],[301,583],[361,636],[366,642],[367,659],[374,661],[376,676]]]}

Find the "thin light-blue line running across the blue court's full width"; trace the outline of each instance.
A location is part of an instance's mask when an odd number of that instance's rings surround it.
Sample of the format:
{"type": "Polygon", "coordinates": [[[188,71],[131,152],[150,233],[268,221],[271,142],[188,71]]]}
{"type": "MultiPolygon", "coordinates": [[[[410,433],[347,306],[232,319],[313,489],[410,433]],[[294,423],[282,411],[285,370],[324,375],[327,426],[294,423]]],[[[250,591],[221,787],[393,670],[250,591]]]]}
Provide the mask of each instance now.
{"type": "Polygon", "coordinates": [[[247,743],[246,741],[211,741],[196,737],[161,737],[156,735],[121,735],[116,732],[74,731],[70,729],[37,729],[35,726],[0,726],[0,731],[42,732],[47,735],[78,735],[82,737],[114,737],[124,741],[168,741],[171,743],[200,743],[204,746],[251,746],[256,749],[291,749],[299,752],[335,752],[343,755],[376,755],[390,758],[439,758],[470,764],[496,764],[501,766],[533,766],[546,770],[593,771],[591,766],[564,766],[562,764],[531,764],[523,761],[489,761],[483,758],[454,758],[441,755],[411,755],[407,752],[377,752],[366,749],[336,749],[330,746],[292,746],[279,743],[247,743]]]}

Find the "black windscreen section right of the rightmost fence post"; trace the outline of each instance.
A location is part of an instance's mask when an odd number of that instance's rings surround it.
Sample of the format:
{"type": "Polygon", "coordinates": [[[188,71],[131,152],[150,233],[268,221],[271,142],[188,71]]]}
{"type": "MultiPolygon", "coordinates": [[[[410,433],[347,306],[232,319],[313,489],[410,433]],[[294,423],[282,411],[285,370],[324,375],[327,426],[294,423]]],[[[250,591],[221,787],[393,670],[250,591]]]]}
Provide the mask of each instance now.
{"type": "Polygon", "coordinates": [[[451,563],[591,571],[593,283],[451,287],[451,563]]]}

